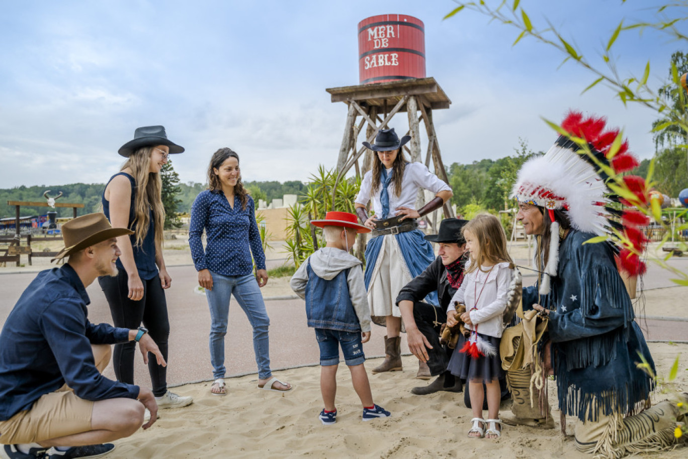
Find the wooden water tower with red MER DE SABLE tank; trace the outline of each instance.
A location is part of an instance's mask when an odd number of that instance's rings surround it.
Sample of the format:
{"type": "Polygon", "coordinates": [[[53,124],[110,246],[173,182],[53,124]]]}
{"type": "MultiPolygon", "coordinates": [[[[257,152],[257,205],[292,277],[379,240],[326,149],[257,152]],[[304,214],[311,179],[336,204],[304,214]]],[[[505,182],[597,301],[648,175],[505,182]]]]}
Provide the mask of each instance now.
{"type": "MultiPolygon", "coordinates": [[[[365,139],[373,142],[378,130],[387,127],[394,115],[405,111],[409,117],[407,134],[411,135],[411,141],[403,148],[412,162],[424,162],[440,179],[449,183],[432,114],[435,109],[449,108],[451,100],[435,78],[425,76],[424,34],[422,21],[405,14],[381,14],[358,23],[360,84],[326,89],[332,102],[349,106],[337,160],[338,180],[352,167],[358,176],[363,176],[372,167],[372,151],[358,142],[363,126],[367,125],[365,139]],[[359,116],[361,120],[357,122],[359,116]],[[420,151],[421,122],[428,138],[424,161],[420,151]],[[363,153],[363,164],[359,164],[363,153]]],[[[422,205],[420,193],[418,200],[422,205]]],[[[444,204],[443,210],[445,217],[454,217],[448,204],[444,204]]]]}

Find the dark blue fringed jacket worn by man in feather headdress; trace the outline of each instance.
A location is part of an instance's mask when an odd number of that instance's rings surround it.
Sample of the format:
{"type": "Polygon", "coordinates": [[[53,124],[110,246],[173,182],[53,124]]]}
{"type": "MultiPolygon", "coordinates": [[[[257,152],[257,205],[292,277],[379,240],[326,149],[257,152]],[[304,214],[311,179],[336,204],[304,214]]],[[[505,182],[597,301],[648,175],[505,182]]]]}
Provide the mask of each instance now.
{"type": "Polygon", "coordinates": [[[652,378],[636,363],[654,361],[608,244],[583,244],[594,234],[570,230],[559,246],[559,268],[549,295],[524,288],[524,308],[550,310],[552,368],[559,409],[580,420],[626,414],[645,401],[652,378]]]}

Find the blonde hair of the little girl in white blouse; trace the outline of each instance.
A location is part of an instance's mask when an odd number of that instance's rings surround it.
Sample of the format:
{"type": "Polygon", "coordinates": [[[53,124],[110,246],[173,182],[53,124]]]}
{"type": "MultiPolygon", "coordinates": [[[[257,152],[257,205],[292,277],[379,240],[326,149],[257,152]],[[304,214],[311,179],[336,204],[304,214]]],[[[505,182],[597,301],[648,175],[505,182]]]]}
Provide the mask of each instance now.
{"type": "Polygon", "coordinates": [[[485,262],[491,264],[502,263],[508,261],[513,263],[506,250],[506,233],[502,228],[502,223],[495,215],[489,213],[481,213],[475,215],[473,219],[466,223],[461,229],[462,234],[466,237],[466,231],[477,239],[478,253],[477,256],[471,252],[471,266],[466,269],[466,273],[472,273],[485,262]]]}

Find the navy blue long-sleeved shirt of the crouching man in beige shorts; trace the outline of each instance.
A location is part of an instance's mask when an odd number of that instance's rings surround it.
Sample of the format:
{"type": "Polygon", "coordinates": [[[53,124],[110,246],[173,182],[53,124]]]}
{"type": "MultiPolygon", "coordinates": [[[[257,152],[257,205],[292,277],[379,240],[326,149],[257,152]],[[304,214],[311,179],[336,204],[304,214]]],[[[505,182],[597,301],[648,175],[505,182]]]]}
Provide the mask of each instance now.
{"type": "Polygon", "coordinates": [[[98,372],[91,344],[125,343],[129,330],[90,323],[89,303],[69,264],[41,271],[24,290],[0,333],[0,420],[65,383],[88,401],[138,397],[138,386],[98,372]]]}

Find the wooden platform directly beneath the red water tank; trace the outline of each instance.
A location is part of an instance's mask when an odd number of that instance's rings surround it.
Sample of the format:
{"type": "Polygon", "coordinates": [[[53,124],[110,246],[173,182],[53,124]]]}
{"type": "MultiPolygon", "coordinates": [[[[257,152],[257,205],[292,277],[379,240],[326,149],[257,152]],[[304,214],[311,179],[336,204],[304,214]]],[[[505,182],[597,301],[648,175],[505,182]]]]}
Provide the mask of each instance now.
{"type": "MultiPolygon", "coordinates": [[[[363,108],[385,107],[389,103],[394,105],[403,96],[416,96],[419,102],[431,109],[447,109],[451,105],[451,100],[447,94],[444,94],[442,87],[433,77],[371,83],[369,85],[331,87],[325,91],[332,96],[332,102],[356,101],[363,108]]],[[[399,111],[406,110],[406,105],[399,109],[399,111]]],[[[378,113],[382,112],[383,110],[378,110],[378,113]]]]}

